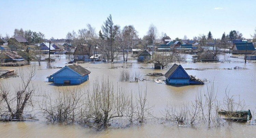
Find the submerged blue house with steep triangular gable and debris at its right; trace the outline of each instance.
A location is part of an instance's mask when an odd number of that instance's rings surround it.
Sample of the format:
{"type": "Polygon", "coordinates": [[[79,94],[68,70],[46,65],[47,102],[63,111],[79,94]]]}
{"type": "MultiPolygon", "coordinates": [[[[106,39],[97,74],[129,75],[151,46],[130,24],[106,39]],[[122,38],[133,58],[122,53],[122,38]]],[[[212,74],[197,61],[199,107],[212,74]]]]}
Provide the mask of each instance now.
{"type": "Polygon", "coordinates": [[[203,84],[203,81],[191,78],[181,65],[173,64],[164,75],[166,83],[170,85],[203,84]]]}

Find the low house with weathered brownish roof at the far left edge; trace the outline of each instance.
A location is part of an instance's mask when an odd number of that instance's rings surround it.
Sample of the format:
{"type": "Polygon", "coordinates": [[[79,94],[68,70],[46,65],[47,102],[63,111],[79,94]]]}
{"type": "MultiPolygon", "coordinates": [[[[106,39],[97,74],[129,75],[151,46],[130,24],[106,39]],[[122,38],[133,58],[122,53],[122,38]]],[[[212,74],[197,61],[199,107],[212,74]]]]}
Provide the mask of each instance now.
{"type": "Polygon", "coordinates": [[[16,62],[23,61],[25,59],[13,51],[3,51],[0,53],[0,60],[4,62],[16,62]]]}

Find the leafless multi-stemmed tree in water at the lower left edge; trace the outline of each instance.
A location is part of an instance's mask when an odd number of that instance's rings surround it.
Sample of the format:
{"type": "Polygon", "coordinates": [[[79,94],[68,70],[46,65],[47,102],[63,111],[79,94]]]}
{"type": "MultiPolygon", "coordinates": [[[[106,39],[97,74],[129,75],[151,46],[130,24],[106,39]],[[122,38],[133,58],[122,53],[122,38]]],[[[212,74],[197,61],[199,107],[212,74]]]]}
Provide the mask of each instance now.
{"type": "Polygon", "coordinates": [[[11,92],[10,86],[7,84],[0,85],[0,99],[4,101],[4,108],[1,117],[4,120],[23,120],[24,109],[32,106],[31,97],[35,91],[32,78],[35,75],[35,65],[31,65],[27,79],[24,76],[23,69],[19,70],[22,83],[17,86],[15,92],[11,92]],[[14,97],[12,95],[14,94],[14,97]]]}

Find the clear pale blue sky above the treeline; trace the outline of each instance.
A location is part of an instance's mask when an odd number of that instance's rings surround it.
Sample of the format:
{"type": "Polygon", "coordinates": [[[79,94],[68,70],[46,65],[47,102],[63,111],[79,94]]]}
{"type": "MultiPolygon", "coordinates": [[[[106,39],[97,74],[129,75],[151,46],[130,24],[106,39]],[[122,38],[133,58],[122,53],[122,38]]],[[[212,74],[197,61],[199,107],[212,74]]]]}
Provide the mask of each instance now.
{"type": "Polygon", "coordinates": [[[142,38],[150,24],[161,35],[171,39],[186,35],[189,39],[212,32],[221,38],[223,32],[238,30],[251,38],[256,27],[256,0],[0,0],[0,34],[13,35],[15,28],[40,31],[45,38],[66,38],[91,24],[97,33],[112,15],[122,28],[133,25],[142,38]]]}

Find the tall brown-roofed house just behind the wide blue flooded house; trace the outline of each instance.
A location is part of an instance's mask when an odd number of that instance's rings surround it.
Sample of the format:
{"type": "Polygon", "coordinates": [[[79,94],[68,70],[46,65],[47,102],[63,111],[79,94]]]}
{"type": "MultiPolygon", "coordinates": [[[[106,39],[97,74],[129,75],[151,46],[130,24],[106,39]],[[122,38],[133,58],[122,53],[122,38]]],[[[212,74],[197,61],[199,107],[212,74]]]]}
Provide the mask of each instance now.
{"type": "Polygon", "coordinates": [[[75,61],[91,61],[90,56],[93,53],[90,51],[88,45],[78,45],[74,52],[74,60],[75,61]]]}

